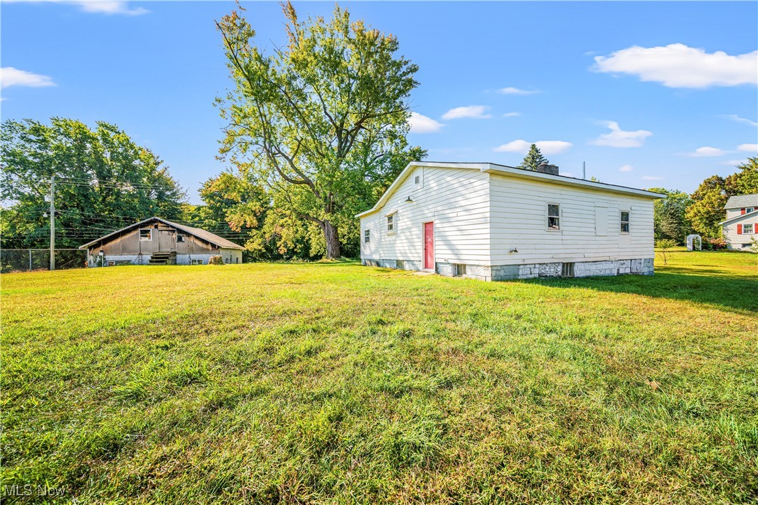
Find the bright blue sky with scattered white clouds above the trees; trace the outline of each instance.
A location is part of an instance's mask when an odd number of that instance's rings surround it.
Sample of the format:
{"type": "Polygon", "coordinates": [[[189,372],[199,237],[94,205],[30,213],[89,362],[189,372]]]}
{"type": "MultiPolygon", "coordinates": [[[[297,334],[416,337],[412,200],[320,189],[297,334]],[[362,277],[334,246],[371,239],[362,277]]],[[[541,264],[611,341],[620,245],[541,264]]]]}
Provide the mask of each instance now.
{"type": "MultiPolygon", "coordinates": [[[[276,2],[243,2],[281,43],[276,2]]],[[[409,140],[432,161],[518,165],[692,191],[755,156],[756,2],[343,2],[420,67],[409,140]]],[[[299,17],[331,2],[296,2],[299,17]]],[[[233,2],[3,2],[2,118],[109,121],[198,203],[230,82],[214,20],[233,2]]]]}

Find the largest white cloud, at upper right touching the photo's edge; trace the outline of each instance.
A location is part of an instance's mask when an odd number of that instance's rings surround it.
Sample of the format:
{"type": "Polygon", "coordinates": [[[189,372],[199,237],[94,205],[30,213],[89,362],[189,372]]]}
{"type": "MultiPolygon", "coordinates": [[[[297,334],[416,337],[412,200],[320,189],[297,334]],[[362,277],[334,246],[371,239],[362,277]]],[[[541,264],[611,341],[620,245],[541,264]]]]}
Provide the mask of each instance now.
{"type": "Polygon", "coordinates": [[[594,60],[594,71],[632,74],[669,88],[758,84],[758,51],[733,56],[722,51],[707,53],[684,44],[650,48],[634,45],[594,60]]]}

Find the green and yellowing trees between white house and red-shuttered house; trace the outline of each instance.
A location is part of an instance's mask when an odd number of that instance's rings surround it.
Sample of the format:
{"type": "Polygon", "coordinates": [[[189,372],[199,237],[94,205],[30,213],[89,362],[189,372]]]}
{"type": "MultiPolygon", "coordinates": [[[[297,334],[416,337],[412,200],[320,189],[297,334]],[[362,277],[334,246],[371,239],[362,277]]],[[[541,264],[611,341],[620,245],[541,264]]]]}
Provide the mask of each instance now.
{"type": "Polygon", "coordinates": [[[654,203],[656,240],[684,243],[692,233],[716,239],[722,234],[719,222],[726,218],[729,197],[758,193],[758,158],[747,158],[728,177],[708,177],[692,194],[662,187],[650,190],[666,194],[654,203]]]}

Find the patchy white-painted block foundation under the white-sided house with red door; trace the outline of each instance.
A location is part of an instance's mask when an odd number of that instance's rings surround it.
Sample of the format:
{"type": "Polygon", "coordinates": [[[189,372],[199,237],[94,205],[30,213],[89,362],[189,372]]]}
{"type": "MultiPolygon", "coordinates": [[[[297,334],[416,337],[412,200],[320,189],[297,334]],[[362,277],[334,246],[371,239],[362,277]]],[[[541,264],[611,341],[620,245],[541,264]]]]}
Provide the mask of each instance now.
{"type": "MultiPolygon", "coordinates": [[[[402,259],[363,259],[365,266],[421,270],[420,261],[402,259]]],[[[446,277],[456,277],[456,263],[437,262],[434,269],[446,277]]],[[[537,277],[558,278],[562,276],[563,263],[530,263],[526,265],[466,265],[465,275],[460,277],[480,281],[513,281],[537,277]]],[[[653,258],[611,259],[600,262],[574,262],[573,277],[596,277],[603,275],[653,275],[653,258]]]]}

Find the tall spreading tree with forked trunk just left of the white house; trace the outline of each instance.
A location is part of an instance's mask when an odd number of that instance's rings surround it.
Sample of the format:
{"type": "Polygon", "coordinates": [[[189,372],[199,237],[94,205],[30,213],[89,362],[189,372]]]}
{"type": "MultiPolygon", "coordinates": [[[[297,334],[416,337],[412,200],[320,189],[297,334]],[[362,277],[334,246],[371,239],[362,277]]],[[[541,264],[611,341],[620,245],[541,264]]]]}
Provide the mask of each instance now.
{"type": "Polygon", "coordinates": [[[417,67],[394,36],[339,7],[330,20],[302,22],[290,3],[283,12],[287,45],[268,53],[239,11],[217,23],[235,86],[218,100],[221,154],[265,185],[277,212],[318,227],[336,258],[340,232],[357,236],[353,215],[373,203],[364,196],[396,174],[387,160],[424,154],[406,142],[417,67]]]}

